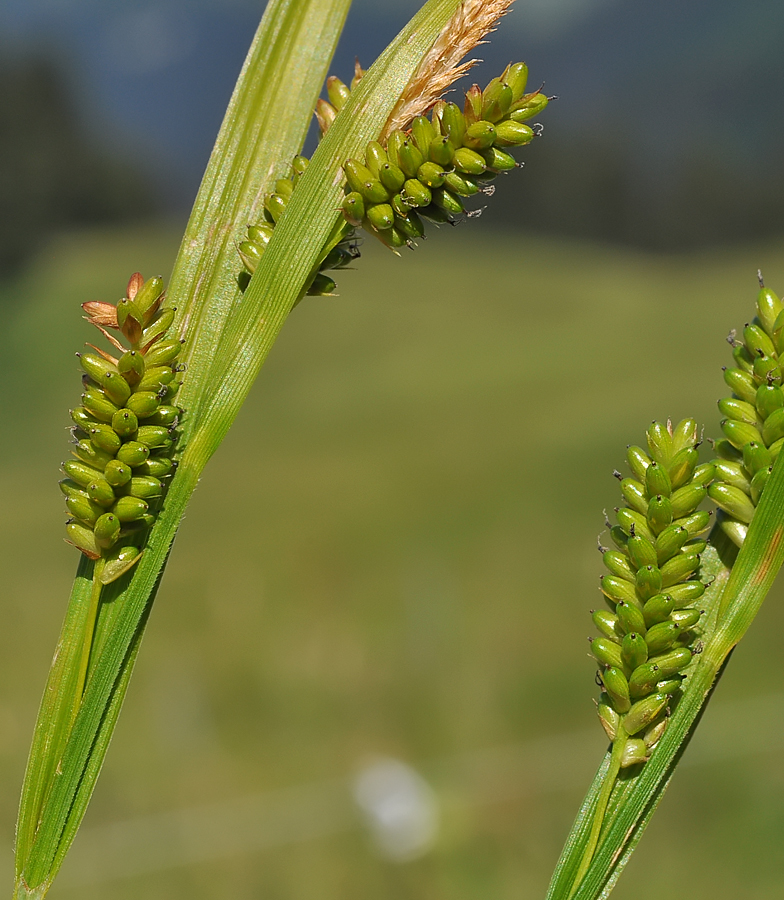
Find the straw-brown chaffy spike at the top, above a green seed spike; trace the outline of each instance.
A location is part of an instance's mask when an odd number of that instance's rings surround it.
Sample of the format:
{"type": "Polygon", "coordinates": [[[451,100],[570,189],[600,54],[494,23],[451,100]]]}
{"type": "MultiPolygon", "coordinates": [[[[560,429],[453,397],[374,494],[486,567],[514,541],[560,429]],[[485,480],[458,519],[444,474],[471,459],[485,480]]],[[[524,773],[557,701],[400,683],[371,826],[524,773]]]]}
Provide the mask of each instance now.
{"type": "Polygon", "coordinates": [[[460,60],[494,30],[513,2],[463,0],[408,82],[387,119],[381,134],[382,141],[393,131],[406,128],[412,119],[427,112],[450,84],[465,75],[476,60],[470,59],[464,63],[460,60]]]}

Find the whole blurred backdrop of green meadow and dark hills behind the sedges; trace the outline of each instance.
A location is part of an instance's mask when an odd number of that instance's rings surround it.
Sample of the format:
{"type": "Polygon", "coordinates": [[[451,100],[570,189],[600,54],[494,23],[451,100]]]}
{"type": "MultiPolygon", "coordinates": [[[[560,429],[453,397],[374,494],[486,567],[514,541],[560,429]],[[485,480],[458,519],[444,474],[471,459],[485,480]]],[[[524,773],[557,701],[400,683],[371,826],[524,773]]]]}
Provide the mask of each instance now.
{"type": "MultiPolygon", "coordinates": [[[[357,3],[338,71],[398,6],[357,3]]],[[[504,22],[484,55],[561,94],[545,137],[482,219],[402,259],[367,240],[339,297],[292,314],[183,522],[53,900],[543,897],[605,744],[586,637],[612,470],[654,417],[717,434],[757,268],[784,290],[782,9],[537,0],[504,22]]],[[[258,12],[0,9],[0,883],[76,565],[56,481],[79,304],[168,274],[258,12]]],[[[781,897],[782,599],[619,900],[781,897]]]]}

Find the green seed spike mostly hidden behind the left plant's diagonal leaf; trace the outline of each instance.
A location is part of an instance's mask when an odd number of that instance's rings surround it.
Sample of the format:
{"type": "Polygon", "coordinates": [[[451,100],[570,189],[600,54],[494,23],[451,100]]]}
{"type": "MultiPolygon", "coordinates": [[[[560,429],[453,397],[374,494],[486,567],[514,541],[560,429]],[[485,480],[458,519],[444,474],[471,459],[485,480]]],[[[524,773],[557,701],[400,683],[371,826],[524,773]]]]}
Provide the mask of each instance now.
{"type": "MultiPolygon", "coordinates": [[[[277,225],[278,220],[283,215],[294,188],[307,166],[307,157],[297,156],[294,158],[294,162],[291,164],[291,176],[278,179],[275,182],[275,190],[264,197],[266,221],[248,226],[247,238],[237,248],[240,259],[245,266],[245,271],[240,272],[237,276],[237,282],[243,291],[247,288],[251,276],[256,271],[262,254],[267,249],[267,244],[272,237],[275,225],[277,225]]],[[[335,282],[328,275],[324,275],[324,271],[328,269],[342,269],[359,256],[359,249],[353,237],[354,229],[347,225],[341,241],[321,261],[319,271],[307,290],[310,296],[324,297],[334,292],[335,282]]]]}

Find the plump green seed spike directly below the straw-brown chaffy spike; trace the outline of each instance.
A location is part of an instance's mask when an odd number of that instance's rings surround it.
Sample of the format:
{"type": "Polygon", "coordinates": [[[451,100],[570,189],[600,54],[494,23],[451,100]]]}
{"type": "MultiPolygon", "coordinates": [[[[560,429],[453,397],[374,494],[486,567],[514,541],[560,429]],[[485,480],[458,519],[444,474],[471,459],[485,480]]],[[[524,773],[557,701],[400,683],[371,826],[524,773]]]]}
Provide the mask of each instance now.
{"type": "MultiPolygon", "coordinates": [[[[509,150],[541,132],[526,122],[549,98],[526,94],[527,81],[525,63],[510,65],[484,91],[474,85],[462,110],[439,100],[430,119],[418,116],[409,131],[393,131],[385,147],[371,141],[363,160],[346,160],[346,221],[396,250],[424,235],[421,217],[452,222],[465,212],[464,198],[492,193],[496,175],[518,166],[509,150]]],[[[336,111],[350,93],[337,79],[328,92],[336,111]]]]}

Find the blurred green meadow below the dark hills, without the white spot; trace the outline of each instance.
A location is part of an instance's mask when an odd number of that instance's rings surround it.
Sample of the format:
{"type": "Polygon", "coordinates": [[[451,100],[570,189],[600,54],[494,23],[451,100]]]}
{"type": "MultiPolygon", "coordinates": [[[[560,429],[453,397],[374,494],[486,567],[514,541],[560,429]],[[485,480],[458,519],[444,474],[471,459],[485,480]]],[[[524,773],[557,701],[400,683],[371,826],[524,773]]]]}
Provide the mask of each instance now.
{"type": "MultiPolygon", "coordinates": [[[[292,314],[183,523],[53,898],[543,896],[604,748],[585,639],[612,469],[654,416],[717,432],[724,336],[751,315],[757,266],[784,283],[784,252],[469,227],[402,259],[366,242],[340,297],[292,314]],[[417,858],[380,854],[352,799],[379,757],[435,792],[417,858]]],[[[4,288],[6,869],[76,562],[55,482],[92,337],[78,304],[166,272],[176,243],[152,226],[62,236],[4,288]]],[[[780,896],[781,601],[619,898],[780,896]]]]}

